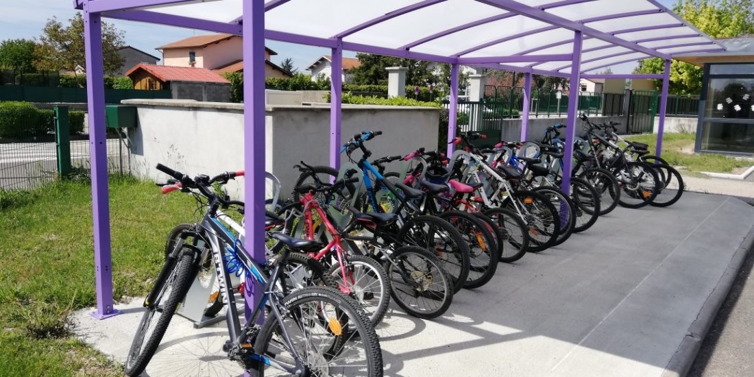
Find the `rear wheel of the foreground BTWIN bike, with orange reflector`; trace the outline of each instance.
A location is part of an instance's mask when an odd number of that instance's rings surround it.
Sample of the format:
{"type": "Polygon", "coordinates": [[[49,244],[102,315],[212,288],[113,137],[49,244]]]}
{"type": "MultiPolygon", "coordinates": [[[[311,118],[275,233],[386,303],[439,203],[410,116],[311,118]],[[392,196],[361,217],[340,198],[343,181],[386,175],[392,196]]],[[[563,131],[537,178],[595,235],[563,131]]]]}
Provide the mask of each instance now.
{"type": "Polygon", "coordinates": [[[259,330],[254,351],[266,360],[250,375],[294,375],[272,365],[294,369],[295,351],[310,369],[307,375],[382,376],[377,333],[353,299],[330,288],[309,287],[286,296],[282,304],[287,308],[283,317],[268,316],[259,330]]]}

